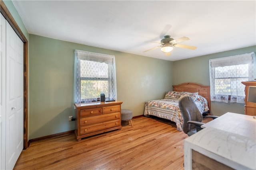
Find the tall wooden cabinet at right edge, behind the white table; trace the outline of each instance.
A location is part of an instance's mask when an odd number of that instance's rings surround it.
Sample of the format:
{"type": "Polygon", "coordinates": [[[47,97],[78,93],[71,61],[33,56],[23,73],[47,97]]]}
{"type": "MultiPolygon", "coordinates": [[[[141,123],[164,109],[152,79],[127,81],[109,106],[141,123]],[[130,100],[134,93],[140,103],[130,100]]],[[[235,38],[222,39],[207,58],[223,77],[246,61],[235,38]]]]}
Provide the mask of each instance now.
{"type": "Polygon", "coordinates": [[[244,112],[246,115],[256,115],[256,103],[248,102],[248,91],[249,91],[249,86],[256,86],[256,81],[248,81],[248,82],[242,82],[242,84],[245,85],[245,98],[244,98],[244,112]]]}

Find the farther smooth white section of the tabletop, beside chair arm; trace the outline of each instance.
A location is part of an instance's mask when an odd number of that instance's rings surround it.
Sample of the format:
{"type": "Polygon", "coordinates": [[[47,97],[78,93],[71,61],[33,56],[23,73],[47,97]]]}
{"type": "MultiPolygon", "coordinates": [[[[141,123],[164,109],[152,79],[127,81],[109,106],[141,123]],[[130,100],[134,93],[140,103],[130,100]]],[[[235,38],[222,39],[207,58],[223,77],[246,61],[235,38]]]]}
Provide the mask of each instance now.
{"type": "Polygon", "coordinates": [[[201,127],[212,127],[230,133],[256,138],[256,119],[250,115],[227,112],[201,127]]]}

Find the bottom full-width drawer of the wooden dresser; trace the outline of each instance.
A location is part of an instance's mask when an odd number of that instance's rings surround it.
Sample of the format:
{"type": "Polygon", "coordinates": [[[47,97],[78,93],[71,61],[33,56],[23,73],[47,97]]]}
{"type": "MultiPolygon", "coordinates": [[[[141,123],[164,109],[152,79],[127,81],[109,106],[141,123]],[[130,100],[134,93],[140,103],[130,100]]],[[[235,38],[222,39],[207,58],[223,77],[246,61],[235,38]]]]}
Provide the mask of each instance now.
{"type": "Polygon", "coordinates": [[[94,125],[83,126],[83,127],[80,127],[80,135],[84,135],[84,134],[92,133],[92,132],[96,132],[96,131],[101,131],[104,129],[108,129],[108,128],[116,127],[116,126],[120,126],[120,125],[121,125],[120,120],[114,120],[114,121],[97,123],[94,125]]]}

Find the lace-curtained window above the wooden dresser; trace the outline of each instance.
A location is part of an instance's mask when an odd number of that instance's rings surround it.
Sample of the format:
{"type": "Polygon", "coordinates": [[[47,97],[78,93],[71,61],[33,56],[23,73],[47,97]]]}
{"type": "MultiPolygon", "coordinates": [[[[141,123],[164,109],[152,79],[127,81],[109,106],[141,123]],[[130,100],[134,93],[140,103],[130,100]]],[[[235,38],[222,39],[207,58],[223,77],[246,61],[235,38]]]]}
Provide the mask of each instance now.
{"type": "Polygon", "coordinates": [[[98,101],[100,94],[116,100],[116,64],[113,55],[75,50],[74,102],[98,101]]]}

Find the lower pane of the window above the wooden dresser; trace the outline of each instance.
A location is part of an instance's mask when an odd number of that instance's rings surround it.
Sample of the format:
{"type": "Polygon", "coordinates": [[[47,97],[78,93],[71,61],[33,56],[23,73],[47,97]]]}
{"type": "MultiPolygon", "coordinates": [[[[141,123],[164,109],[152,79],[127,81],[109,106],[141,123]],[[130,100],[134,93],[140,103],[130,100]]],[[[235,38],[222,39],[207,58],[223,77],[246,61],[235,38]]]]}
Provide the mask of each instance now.
{"type": "Polygon", "coordinates": [[[107,80],[81,80],[81,98],[99,98],[100,94],[108,97],[107,80]]]}

